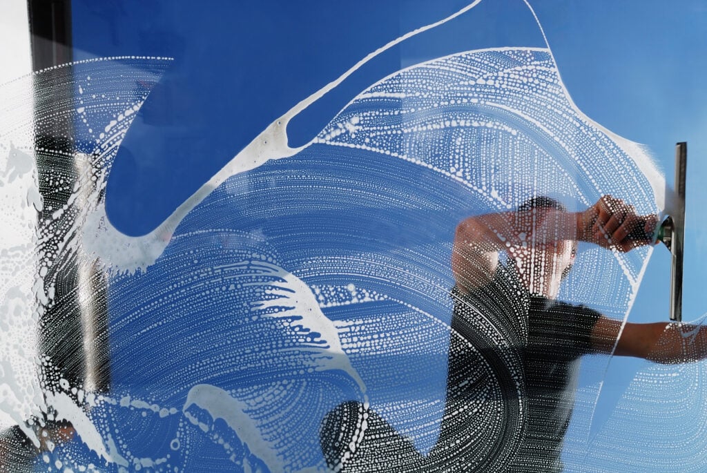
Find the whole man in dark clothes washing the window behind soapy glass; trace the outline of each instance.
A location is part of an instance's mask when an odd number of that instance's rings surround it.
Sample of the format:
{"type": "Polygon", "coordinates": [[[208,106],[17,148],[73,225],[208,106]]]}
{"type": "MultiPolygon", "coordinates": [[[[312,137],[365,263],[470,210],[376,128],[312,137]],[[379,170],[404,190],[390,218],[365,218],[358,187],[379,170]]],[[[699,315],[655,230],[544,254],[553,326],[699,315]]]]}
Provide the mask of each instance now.
{"type": "Polygon", "coordinates": [[[584,305],[557,300],[578,241],[629,252],[654,243],[650,235],[657,223],[654,215],[641,216],[612,196],[577,213],[549,197],[534,197],[515,211],[462,220],[452,250],[454,310],[436,445],[421,455],[373,409],[345,402],[325,416],[320,428],[329,467],[344,472],[561,472],[581,356],[615,354],[660,363],[707,356],[704,329],[694,331],[687,352],[682,333],[694,327],[622,324],[584,305]],[[493,343],[496,334],[506,346],[493,343]],[[493,373],[482,373],[484,366],[493,373]]]}

